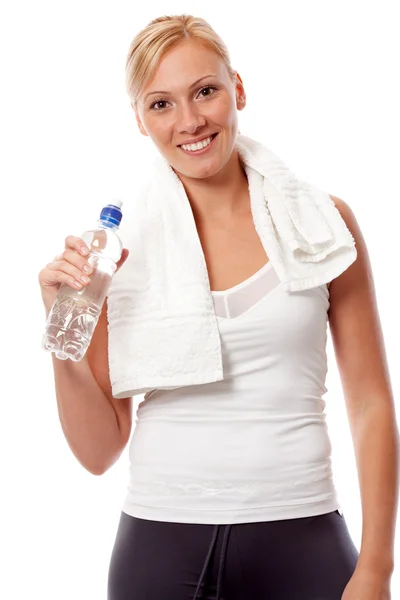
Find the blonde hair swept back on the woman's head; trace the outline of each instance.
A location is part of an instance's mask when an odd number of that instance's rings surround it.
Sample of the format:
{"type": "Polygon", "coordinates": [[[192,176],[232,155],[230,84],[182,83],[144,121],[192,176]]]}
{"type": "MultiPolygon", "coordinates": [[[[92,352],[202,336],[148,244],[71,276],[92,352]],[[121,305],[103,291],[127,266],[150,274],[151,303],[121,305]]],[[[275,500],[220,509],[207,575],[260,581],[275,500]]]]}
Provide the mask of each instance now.
{"type": "Polygon", "coordinates": [[[235,76],[236,71],[231,66],[225,43],[207,21],[191,15],[159,17],[139,31],[129,47],[125,65],[125,85],[133,106],[168,50],[190,38],[199,40],[206,48],[217,52],[229,75],[232,78],[235,76]]]}

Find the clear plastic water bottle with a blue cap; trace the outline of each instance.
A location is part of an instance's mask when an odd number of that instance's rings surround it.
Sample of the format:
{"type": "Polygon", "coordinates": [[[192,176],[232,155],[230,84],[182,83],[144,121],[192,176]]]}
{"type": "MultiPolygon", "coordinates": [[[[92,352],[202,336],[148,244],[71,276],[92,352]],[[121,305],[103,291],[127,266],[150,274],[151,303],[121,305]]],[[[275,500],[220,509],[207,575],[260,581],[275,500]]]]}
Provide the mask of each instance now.
{"type": "Polygon", "coordinates": [[[81,238],[90,249],[87,257],[93,267],[90,283],[74,290],[66,283],[60,285],[50,310],[43,335],[42,347],[55,352],[57,358],[79,362],[89,347],[102,306],[107,297],[123,245],[117,235],[121,223],[122,201],[105,206],[96,229],[85,231],[81,238]]]}

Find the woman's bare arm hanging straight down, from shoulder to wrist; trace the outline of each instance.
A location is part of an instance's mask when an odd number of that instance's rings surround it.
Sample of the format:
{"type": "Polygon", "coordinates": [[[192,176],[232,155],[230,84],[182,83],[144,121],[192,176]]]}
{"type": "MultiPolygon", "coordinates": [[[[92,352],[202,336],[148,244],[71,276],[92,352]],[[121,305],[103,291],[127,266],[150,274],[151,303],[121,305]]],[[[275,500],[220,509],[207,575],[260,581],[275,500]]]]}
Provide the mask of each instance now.
{"type": "Polygon", "coordinates": [[[331,196],[356,243],[357,259],[330,286],[329,324],[354,443],[362,503],[358,565],[394,569],[399,433],[368,250],[356,218],[331,196]]]}

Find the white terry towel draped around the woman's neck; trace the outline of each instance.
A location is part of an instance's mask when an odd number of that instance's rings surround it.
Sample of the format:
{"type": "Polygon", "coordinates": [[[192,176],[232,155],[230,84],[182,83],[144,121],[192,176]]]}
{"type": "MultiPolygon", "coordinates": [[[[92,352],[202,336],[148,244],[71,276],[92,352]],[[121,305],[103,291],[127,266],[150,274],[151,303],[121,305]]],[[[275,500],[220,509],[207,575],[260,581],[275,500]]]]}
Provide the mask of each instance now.
{"type": "MultiPolygon", "coordinates": [[[[284,290],[305,290],[340,275],[357,251],[331,197],[298,179],[259,142],[239,135],[237,148],[255,229],[284,290]]],[[[222,380],[202,246],[185,189],[163,157],[132,209],[120,228],[130,254],[108,293],[113,396],[222,380]]]]}

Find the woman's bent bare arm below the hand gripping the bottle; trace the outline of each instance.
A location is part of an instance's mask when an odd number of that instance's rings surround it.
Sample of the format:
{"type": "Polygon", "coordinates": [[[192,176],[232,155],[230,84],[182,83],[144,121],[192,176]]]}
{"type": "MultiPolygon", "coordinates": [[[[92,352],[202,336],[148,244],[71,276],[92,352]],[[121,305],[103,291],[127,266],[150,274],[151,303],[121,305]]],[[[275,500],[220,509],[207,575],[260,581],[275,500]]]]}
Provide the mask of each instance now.
{"type": "Polygon", "coordinates": [[[109,378],[107,299],[86,355],[80,362],[52,353],[62,430],[79,462],[103,474],[125,448],[132,424],[132,398],[113,398],[109,378]]]}

